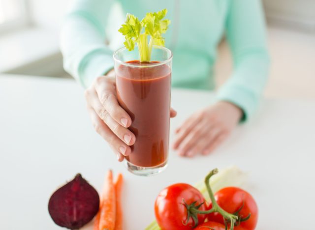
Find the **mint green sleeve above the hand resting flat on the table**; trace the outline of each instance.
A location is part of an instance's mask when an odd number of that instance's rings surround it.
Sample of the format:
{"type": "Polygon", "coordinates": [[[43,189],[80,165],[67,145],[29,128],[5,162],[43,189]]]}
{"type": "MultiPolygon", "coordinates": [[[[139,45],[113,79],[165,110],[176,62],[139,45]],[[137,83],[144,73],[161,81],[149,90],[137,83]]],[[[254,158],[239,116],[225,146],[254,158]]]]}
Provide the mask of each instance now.
{"type": "Polygon", "coordinates": [[[257,109],[269,72],[265,22],[260,0],[230,0],[226,37],[233,58],[233,73],[217,100],[240,107],[250,118],[257,109]]]}

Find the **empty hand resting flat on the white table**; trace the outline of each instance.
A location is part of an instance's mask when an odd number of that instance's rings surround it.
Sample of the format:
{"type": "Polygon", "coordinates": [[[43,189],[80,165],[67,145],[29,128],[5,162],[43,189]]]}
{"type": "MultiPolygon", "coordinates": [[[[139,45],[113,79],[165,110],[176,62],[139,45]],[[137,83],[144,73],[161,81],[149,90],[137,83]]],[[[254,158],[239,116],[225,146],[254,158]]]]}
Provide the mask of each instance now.
{"type": "Polygon", "coordinates": [[[209,154],[227,138],[242,115],[239,107],[225,101],[196,112],[176,129],[173,148],[180,156],[209,154]]]}

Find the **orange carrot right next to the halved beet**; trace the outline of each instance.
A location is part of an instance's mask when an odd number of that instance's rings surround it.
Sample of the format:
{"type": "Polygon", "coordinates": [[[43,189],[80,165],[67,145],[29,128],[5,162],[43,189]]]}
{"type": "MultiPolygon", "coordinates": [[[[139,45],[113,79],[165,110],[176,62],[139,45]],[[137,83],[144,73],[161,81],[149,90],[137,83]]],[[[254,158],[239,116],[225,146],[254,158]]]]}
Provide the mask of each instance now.
{"type": "Polygon", "coordinates": [[[99,230],[114,230],[116,219],[116,197],[113,173],[108,171],[105,177],[102,204],[99,217],[99,230]]]}

